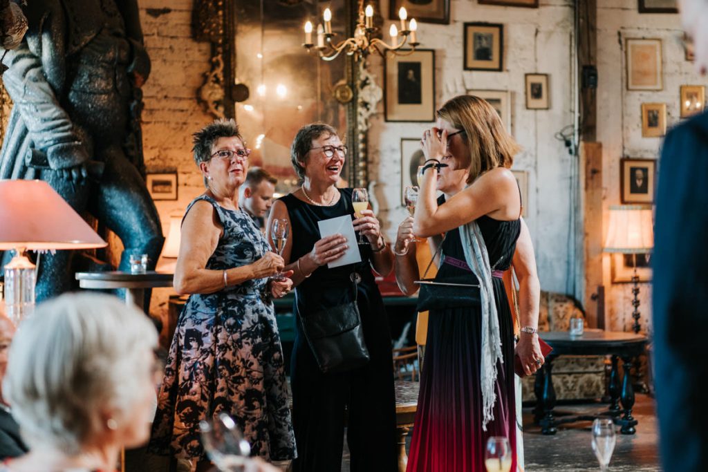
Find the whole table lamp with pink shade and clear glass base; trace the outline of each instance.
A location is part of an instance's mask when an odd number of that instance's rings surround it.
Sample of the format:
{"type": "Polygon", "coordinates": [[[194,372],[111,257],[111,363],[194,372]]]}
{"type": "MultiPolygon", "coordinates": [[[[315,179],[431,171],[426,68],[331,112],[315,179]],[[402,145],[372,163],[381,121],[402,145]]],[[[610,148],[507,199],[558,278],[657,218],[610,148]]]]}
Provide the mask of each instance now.
{"type": "Polygon", "coordinates": [[[5,304],[16,325],[35,306],[35,265],[25,251],[106,245],[46,182],[0,180],[0,251],[15,251],[5,266],[5,304]]]}

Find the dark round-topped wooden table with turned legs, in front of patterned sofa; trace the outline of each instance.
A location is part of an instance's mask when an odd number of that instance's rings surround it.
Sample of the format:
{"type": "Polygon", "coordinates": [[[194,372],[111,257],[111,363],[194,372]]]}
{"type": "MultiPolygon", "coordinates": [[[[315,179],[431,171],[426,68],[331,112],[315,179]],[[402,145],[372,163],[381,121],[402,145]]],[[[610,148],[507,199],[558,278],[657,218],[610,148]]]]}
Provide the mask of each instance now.
{"type": "Polygon", "coordinates": [[[632,361],[646,347],[645,336],[634,333],[615,331],[586,330],[581,336],[571,336],[567,331],[551,331],[539,333],[553,351],[547,355],[546,362],[536,374],[535,418],[541,424],[543,434],[556,434],[556,426],[566,422],[593,420],[609,416],[620,425],[622,434],[634,434],[636,420],[632,416],[634,406],[634,388],[632,388],[632,361]],[[553,359],[561,355],[611,355],[612,372],[610,373],[610,408],[598,415],[575,415],[556,418],[553,409],[556,405],[556,392],[553,388],[553,359]],[[620,388],[617,359],[622,358],[624,376],[620,388]],[[622,408],[619,408],[619,402],[622,408]]]}

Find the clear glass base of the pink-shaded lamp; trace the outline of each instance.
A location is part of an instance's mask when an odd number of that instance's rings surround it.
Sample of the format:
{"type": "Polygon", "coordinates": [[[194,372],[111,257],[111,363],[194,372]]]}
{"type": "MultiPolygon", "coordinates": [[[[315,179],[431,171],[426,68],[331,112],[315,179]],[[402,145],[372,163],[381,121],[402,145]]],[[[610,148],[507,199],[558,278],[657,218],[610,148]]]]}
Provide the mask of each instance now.
{"type": "Polygon", "coordinates": [[[15,326],[35,309],[35,265],[21,249],[5,266],[5,309],[15,326]]]}

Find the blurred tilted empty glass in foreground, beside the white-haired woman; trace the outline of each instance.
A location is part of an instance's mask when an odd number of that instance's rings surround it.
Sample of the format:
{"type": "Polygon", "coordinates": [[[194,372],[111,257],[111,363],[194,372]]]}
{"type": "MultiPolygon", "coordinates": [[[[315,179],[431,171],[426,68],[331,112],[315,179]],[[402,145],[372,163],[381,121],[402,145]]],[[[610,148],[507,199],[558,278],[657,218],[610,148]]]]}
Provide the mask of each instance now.
{"type": "Polygon", "coordinates": [[[222,472],[252,470],[251,446],[236,422],[226,413],[199,422],[202,446],[210,461],[222,472]]]}

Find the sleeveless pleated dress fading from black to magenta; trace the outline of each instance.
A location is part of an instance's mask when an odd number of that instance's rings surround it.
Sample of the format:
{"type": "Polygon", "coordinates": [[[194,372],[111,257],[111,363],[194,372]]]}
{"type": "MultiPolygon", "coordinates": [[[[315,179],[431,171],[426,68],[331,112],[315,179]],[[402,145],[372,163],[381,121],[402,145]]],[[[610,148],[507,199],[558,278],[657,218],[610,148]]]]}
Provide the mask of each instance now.
{"type": "MultiPolygon", "coordinates": [[[[484,216],[476,222],[484,236],[492,270],[507,270],[521,221],[484,216]]],[[[442,254],[445,258],[436,280],[469,277],[470,284],[478,283],[472,272],[459,267],[466,266],[459,263],[464,261],[459,229],[447,232],[442,254]]],[[[503,355],[503,364],[497,366],[494,419],[486,425],[486,431],[482,430],[481,306],[430,310],[408,472],[484,471],[486,440],[491,436],[509,439],[513,458],[510,470],[516,470],[514,328],[501,276],[492,277],[492,283],[503,355]]]]}

